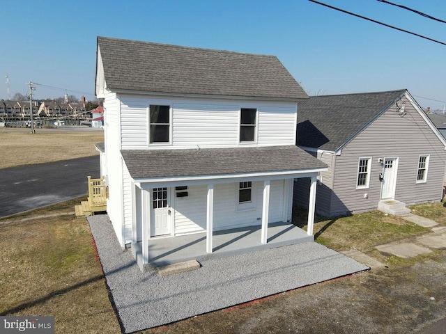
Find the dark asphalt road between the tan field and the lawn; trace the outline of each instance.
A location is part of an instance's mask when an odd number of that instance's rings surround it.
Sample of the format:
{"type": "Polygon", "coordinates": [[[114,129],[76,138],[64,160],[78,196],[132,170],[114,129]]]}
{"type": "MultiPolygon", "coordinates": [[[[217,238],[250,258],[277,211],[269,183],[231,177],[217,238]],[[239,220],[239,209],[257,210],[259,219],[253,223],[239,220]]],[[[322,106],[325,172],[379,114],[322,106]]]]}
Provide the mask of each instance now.
{"type": "Polygon", "coordinates": [[[99,156],[0,169],[0,218],[88,193],[99,156]]]}

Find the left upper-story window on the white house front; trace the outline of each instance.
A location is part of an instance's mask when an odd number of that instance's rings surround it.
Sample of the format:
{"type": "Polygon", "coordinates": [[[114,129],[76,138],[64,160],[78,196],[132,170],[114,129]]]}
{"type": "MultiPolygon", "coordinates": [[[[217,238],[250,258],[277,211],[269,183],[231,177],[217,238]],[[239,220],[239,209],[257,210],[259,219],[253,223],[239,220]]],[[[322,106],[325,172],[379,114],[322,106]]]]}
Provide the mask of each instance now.
{"type": "Polygon", "coordinates": [[[169,143],[170,106],[150,106],[150,143],[169,143]]]}

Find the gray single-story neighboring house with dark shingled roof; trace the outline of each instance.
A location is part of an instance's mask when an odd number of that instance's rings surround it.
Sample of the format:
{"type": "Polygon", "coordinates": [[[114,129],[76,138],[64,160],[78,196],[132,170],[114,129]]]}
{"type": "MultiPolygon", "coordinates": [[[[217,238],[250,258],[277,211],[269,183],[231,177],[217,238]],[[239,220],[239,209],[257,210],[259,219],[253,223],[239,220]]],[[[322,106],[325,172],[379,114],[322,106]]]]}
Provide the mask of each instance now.
{"type": "MultiPolygon", "coordinates": [[[[445,138],[405,89],[310,97],[299,104],[297,143],[328,164],[317,185],[323,216],[443,198],[445,138]]],[[[296,204],[308,205],[308,189],[295,180],[296,204]]]]}

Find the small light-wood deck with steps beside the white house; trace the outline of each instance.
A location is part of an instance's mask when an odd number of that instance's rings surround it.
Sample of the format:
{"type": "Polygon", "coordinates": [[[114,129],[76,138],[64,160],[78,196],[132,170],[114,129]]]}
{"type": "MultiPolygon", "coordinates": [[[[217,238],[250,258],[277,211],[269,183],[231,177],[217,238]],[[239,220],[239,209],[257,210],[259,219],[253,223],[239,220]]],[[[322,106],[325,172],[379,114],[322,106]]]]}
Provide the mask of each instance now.
{"type": "Polygon", "coordinates": [[[89,180],[89,198],[75,205],[76,216],[91,216],[95,212],[107,211],[108,187],[105,185],[104,177],[89,180]]]}

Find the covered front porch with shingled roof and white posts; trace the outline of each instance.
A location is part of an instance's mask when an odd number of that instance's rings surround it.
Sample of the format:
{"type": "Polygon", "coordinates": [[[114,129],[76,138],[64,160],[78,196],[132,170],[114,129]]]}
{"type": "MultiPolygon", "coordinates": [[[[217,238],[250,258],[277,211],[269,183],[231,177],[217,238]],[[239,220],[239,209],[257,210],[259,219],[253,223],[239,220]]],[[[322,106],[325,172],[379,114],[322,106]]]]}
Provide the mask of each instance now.
{"type": "Polygon", "coordinates": [[[121,154],[131,179],[130,247],[141,270],[314,240],[316,177],[326,167],[293,145],[121,154]],[[176,161],[183,161],[180,168],[176,161]],[[284,223],[291,221],[299,177],[312,180],[307,232],[284,223]],[[176,228],[186,220],[196,231],[176,228]]]}

